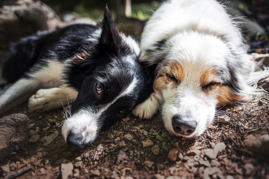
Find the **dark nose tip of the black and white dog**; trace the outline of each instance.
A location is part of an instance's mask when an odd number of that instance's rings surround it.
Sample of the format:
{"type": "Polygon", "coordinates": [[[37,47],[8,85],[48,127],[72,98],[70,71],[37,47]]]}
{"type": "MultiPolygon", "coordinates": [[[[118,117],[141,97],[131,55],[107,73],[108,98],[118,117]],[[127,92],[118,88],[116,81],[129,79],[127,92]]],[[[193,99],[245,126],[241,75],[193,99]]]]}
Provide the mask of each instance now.
{"type": "Polygon", "coordinates": [[[83,143],[82,135],[70,132],[66,138],[66,143],[73,149],[83,150],[88,144],[83,143]]]}

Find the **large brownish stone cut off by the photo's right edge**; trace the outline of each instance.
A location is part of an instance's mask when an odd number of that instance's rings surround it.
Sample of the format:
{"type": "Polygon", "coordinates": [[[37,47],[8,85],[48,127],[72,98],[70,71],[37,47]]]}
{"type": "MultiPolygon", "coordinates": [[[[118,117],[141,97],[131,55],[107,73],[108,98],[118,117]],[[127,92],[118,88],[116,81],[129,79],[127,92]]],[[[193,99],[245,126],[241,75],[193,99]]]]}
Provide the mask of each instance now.
{"type": "Polygon", "coordinates": [[[249,135],[246,137],[244,145],[248,150],[259,155],[269,156],[269,134],[264,134],[262,136],[249,135]]]}

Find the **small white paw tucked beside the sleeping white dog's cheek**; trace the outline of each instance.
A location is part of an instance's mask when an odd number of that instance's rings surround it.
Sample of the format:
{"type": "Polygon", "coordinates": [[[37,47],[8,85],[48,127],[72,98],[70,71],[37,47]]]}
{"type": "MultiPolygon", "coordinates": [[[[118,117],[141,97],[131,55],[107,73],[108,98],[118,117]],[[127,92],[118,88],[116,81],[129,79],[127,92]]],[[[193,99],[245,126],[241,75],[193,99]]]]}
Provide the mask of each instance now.
{"type": "Polygon", "coordinates": [[[159,103],[154,95],[151,95],[146,101],[140,103],[132,111],[132,114],[140,119],[151,119],[158,111],[159,103]]]}

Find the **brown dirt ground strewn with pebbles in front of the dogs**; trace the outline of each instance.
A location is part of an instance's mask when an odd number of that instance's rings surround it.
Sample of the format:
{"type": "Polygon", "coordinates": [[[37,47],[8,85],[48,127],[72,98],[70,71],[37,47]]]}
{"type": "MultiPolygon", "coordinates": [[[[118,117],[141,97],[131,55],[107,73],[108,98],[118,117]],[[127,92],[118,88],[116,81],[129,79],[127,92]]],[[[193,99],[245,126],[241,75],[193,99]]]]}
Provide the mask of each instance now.
{"type": "Polygon", "coordinates": [[[268,97],[267,91],[245,104],[223,107],[227,113],[195,139],[170,135],[158,115],[152,120],[129,116],[84,151],[65,144],[62,109],[31,112],[24,104],[9,112],[26,114],[30,122],[18,125],[22,132],[7,139],[11,154],[1,162],[0,177],[269,179],[269,148],[251,152],[245,142],[269,133],[268,97]]]}

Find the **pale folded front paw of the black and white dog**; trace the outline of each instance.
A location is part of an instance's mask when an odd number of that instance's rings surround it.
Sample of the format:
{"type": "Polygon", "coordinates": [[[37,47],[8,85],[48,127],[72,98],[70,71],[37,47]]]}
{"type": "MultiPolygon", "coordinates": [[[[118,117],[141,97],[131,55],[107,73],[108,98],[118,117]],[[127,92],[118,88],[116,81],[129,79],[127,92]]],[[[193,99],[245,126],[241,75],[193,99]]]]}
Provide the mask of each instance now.
{"type": "Polygon", "coordinates": [[[28,108],[33,111],[45,111],[55,108],[55,106],[58,104],[55,104],[52,92],[53,91],[51,89],[38,90],[36,94],[29,98],[28,108]]]}

